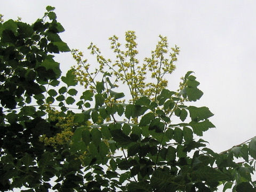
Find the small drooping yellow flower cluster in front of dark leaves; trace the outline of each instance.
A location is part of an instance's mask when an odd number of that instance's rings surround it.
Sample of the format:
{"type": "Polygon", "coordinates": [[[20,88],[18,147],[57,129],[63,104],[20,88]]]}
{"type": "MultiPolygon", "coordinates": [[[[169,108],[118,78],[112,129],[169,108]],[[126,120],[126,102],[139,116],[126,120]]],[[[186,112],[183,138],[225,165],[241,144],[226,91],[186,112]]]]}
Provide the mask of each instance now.
{"type": "Polygon", "coordinates": [[[47,105],[46,107],[49,121],[58,121],[56,126],[60,127],[62,131],[50,138],[46,137],[46,135],[42,135],[39,138],[39,141],[43,142],[44,145],[50,145],[53,147],[69,143],[71,141],[71,137],[73,136],[72,130],[77,125],[74,123],[74,115],[69,113],[66,117],[62,117],[60,115],[60,111],[50,107],[50,105],[47,105]]]}

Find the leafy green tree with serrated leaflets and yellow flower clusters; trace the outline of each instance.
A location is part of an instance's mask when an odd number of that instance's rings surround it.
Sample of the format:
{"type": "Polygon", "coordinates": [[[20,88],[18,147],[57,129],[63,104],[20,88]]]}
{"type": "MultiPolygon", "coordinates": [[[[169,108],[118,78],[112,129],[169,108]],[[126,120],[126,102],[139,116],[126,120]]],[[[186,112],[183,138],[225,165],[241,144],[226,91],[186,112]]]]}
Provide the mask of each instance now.
{"type": "Polygon", "coordinates": [[[98,66],[71,50],[77,65],[61,76],[52,53],[70,49],[54,7],[46,10],[32,25],[0,23],[1,191],[255,191],[256,138],[214,153],[201,139],[213,114],[190,106],[203,95],[193,71],[167,89],[177,46],[167,55],[159,36],[141,64],[127,31],[124,50],[109,38],[115,61],[91,44],[98,66]]]}

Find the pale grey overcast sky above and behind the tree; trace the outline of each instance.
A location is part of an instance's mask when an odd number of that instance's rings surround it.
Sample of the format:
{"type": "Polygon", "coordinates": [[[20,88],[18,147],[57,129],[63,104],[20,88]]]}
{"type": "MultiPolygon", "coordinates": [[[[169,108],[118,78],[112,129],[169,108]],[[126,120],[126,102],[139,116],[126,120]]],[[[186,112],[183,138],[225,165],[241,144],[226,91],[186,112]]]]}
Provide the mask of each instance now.
{"type": "MultiPolygon", "coordinates": [[[[136,31],[140,57],[148,57],[158,35],[177,44],[177,70],[169,79],[169,89],[177,90],[179,78],[195,71],[204,92],[201,101],[209,107],[217,127],[204,135],[217,152],[231,148],[256,135],[255,52],[256,1],[1,1],[4,19],[32,23],[41,18],[45,7],[56,7],[57,20],[66,29],[62,40],[70,48],[84,51],[94,42],[106,57],[108,37],[124,42],[127,30],[136,31]]],[[[75,62],[70,53],[58,56],[61,68],[75,62]]]]}

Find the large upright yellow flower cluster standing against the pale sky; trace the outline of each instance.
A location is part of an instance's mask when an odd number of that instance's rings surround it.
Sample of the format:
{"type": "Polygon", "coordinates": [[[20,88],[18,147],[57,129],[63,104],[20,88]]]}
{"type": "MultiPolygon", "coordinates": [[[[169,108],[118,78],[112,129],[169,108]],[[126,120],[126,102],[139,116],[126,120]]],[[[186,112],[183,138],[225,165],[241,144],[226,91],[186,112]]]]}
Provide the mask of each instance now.
{"type": "MultiPolygon", "coordinates": [[[[169,46],[167,38],[159,35],[159,42],[154,51],[151,52],[151,57],[145,58],[144,63],[140,65],[136,58],[137,43],[134,31],[126,31],[125,33],[125,50],[121,50],[121,44],[118,42],[118,37],[110,37],[110,45],[113,52],[116,54],[116,60],[111,62],[110,59],[105,59],[97,46],[90,44],[88,49],[91,54],[97,57],[98,67],[95,67],[94,72],[89,72],[90,65],[87,60],[83,60],[83,53],[78,50],[73,50],[73,57],[77,61],[76,69],[77,81],[85,88],[90,86],[90,89],[95,91],[94,79],[99,72],[104,74],[106,71],[112,78],[114,84],[126,84],[131,93],[131,102],[134,102],[142,96],[146,96],[155,100],[157,95],[161,93],[167,86],[167,80],[164,78],[166,74],[171,74],[175,70],[174,62],[177,61],[179,47],[171,48],[168,55],[169,46]]],[[[108,100],[110,100],[108,98],[108,100]]]]}

